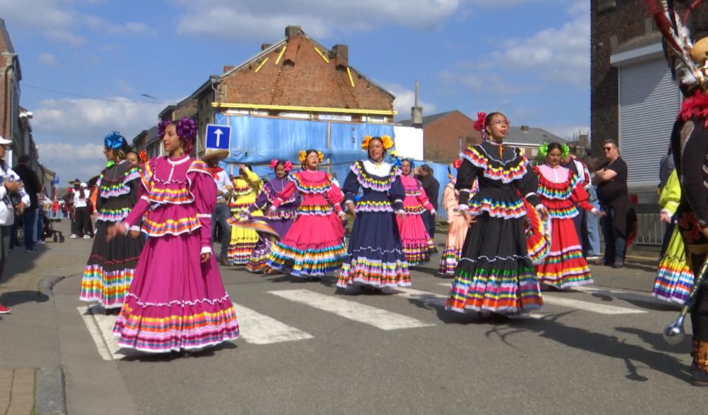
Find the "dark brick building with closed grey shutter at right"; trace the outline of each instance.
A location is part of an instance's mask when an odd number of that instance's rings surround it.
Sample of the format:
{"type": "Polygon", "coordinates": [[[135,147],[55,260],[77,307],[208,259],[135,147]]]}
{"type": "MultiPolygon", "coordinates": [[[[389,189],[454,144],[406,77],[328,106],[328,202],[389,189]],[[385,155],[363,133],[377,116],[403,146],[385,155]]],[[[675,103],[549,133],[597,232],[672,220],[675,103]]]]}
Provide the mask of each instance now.
{"type": "Polygon", "coordinates": [[[661,33],[642,0],[591,1],[592,153],[616,139],[639,200],[654,203],[681,94],[664,58],[661,33]]]}

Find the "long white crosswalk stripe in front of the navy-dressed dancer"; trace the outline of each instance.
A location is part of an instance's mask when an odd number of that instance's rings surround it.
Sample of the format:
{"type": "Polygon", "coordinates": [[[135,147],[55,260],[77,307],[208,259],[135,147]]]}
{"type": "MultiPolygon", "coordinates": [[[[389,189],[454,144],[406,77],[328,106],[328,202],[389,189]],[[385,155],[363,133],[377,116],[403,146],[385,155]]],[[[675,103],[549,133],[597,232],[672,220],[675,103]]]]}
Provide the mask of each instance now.
{"type": "Polygon", "coordinates": [[[384,309],[363,305],[350,300],[343,300],[330,295],[319,294],[310,290],[280,290],[268,292],[278,297],[285,298],[285,300],[331,312],[340,317],[375,326],[382,330],[435,326],[435,324],[423,323],[412,317],[404,316],[403,314],[389,312],[384,309]]]}

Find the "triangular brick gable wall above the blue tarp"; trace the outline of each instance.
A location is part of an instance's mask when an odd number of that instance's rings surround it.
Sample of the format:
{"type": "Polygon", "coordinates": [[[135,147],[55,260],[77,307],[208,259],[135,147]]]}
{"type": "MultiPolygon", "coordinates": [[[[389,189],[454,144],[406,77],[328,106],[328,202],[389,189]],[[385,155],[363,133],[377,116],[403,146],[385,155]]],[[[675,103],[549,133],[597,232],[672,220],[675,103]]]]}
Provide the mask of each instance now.
{"type": "MultiPolygon", "coordinates": [[[[261,103],[282,106],[314,106],[329,108],[365,108],[392,110],[393,98],[351,69],[354,86],[346,71],[347,59],[337,59],[333,52],[322,50],[304,35],[287,40],[258,62],[225,76],[219,85],[219,96],[227,103],[261,103]],[[315,47],[329,58],[329,63],[315,47]],[[268,57],[261,69],[260,62],[268,57]],[[256,72],[258,69],[258,72],[256,72]]],[[[347,54],[348,55],[348,54],[347,54]]]]}

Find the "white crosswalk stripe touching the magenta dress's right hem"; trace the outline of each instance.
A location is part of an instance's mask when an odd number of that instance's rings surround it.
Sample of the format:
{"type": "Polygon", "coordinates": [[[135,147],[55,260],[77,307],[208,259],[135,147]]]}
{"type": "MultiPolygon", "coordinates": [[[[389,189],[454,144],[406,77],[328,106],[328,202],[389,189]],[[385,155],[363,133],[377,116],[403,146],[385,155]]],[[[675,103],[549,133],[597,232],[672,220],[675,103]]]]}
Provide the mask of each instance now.
{"type": "Polygon", "coordinates": [[[249,343],[270,344],[314,338],[312,334],[278,322],[248,307],[238,304],[234,304],[234,307],[239,317],[241,339],[249,343]]]}

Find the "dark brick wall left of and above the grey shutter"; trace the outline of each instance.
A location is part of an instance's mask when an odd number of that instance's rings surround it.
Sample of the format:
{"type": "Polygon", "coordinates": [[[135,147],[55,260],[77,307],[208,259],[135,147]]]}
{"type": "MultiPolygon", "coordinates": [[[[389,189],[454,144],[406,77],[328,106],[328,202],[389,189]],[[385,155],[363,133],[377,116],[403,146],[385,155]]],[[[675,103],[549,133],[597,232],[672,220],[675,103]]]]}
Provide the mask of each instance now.
{"type": "Polygon", "coordinates": [[[619,69],[610,66],[612,47],[644,35],[646,18],[643,0],[590,2],[590,132],[595,156],[603,140],[619,137],[619,69]]]}

